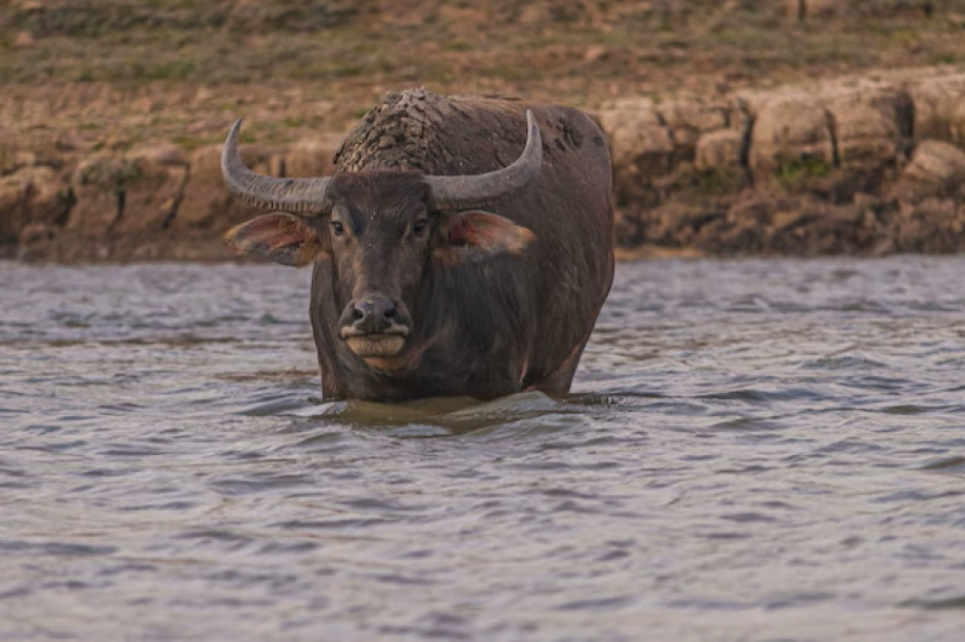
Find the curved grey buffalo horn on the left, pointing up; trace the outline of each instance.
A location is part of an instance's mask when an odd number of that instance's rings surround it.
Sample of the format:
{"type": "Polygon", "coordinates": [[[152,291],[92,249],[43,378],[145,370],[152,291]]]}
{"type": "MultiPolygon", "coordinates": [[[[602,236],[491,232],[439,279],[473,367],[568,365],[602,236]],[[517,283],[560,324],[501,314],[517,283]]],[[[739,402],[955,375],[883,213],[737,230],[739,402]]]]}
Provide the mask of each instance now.
{"type": "Polygon", "coordinates": [[[241,119],[235,121],[221,150],[221,175],[232,194],[256,207],[286,212],[317,212],[325,200],[328,178],[272,178],[257,174],[238,153],[241,119]]]}

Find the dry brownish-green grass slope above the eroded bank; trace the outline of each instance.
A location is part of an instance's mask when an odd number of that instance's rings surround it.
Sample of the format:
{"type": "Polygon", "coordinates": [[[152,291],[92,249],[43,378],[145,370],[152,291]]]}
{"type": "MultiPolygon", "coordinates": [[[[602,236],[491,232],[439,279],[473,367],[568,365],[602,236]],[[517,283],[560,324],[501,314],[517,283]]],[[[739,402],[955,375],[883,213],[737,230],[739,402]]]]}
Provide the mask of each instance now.
{"type": "Polygon", "coordinates": [[[196,146],[245,111],[261,141],[342,130],[384,90],[410,85],[592,108],[965,64],[965,0],[928,15],[913,0],[850,4],[800,23],[768,0],[8,1],[0,107],[8,134],[35,125],[16,105],[39,101],[51,126],[87,132],[81,145],[196,146]]]}

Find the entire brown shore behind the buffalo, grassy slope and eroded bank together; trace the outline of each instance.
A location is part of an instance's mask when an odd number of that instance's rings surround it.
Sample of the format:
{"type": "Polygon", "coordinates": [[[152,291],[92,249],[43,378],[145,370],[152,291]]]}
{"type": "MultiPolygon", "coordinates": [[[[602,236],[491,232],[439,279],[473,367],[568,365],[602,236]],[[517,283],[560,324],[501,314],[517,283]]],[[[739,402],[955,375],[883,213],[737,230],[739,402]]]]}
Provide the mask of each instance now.
{"type": "Polygon", "coordinates": [[[0,2],[0,256],[227,257],[388,90],[596,114],[626,254],[965,250],[965,0],[0,2]]]}

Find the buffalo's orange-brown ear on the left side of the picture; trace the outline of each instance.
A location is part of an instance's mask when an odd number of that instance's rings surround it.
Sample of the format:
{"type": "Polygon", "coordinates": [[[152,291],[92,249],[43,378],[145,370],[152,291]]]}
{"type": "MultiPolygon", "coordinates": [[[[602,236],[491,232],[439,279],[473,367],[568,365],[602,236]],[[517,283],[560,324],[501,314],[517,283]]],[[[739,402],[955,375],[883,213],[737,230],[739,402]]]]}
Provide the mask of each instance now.
{"type": "Polygon", "coordinates": [[[328,237],[307,221],[284,212],[272,212],[236,225],[224,235],[236,254],[254,254],[275,263],[301,267],[328,254],[328,237]]]}

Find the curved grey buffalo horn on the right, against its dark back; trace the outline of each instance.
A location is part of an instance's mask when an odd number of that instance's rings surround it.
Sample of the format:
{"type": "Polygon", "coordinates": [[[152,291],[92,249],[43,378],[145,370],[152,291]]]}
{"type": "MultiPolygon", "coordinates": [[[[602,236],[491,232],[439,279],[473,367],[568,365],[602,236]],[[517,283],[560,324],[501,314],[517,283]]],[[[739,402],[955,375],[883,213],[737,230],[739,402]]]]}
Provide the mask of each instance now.
{"type": "Polygon", "coordinates": [[[513,192],[539,174],[543,165],[543,142],[533,112],[526,110],[526,147],[512,165],[470,176],[426,176],[439,209],[480,207],[513,192]]]}

